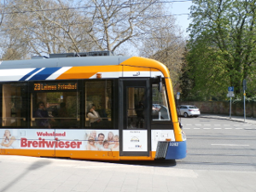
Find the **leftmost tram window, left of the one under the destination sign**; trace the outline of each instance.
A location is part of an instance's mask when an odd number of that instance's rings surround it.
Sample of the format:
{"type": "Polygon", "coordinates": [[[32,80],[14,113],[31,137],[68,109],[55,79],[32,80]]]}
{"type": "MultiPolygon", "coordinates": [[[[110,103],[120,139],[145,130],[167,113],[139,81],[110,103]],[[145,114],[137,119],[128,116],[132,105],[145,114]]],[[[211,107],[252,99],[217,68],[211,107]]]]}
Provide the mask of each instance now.
{"type": "Polygon", "coordinates": [[[26,126],[26,84],[3,84],[2,126],[26,126]]]}

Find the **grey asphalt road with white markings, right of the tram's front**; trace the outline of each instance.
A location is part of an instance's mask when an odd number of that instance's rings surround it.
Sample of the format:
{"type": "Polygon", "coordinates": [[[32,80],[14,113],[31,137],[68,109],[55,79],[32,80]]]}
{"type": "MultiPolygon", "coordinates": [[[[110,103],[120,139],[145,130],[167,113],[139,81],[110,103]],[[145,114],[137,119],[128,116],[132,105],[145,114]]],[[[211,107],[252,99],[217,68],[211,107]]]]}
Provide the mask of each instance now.
{"type": "Polygon", "coordinates": [[[182,118],[188,154],[177,167],[256,171],[256,125],[224,119],[182,118]]]}

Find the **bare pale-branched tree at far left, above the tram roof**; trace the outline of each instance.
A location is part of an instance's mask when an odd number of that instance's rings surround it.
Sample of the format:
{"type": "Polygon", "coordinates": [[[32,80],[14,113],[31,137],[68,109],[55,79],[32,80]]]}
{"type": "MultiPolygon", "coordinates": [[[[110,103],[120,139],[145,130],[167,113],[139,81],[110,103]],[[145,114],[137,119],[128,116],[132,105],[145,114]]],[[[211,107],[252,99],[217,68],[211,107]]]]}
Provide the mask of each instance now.
{"type": "Polygon", "coordinates": [[[90,38],[84,32],[87,19],[70,6],[59,0],[9,1],[3,26],[7,44],[11,46],[10,39],[15,39],[15,46],[26,48],[24,55],[90,50],[90,44],[84,44],[90,38]]]}

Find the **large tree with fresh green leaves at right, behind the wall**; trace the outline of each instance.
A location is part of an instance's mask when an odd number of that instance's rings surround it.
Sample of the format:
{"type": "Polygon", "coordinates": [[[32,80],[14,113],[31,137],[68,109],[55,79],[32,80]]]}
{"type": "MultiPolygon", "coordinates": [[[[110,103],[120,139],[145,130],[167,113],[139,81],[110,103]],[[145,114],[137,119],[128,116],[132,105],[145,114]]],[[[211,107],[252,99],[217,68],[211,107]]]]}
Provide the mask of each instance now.
{"type": "Polygon", "coordinates": [[[227,93],[235,87],[241,96],[242,80],[255,72],[255,0],[199,0],[191,7],[189,67],[195,88],[227,93]]]}

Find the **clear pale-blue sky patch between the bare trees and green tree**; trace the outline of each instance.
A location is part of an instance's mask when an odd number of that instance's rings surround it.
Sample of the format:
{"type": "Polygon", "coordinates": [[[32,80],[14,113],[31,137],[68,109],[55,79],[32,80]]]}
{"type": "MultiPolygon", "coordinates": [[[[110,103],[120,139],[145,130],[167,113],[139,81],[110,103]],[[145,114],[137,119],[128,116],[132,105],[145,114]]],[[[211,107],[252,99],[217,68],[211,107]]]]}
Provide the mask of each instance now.
{"type": "MultiPolygon", "coordinates": [[[[186,29],[189,27],[189,15],[181,15],[181,14],[189,14],[190,10],[189,7],[192,5],[192,1],[186,1],[184,2],[175,2],[174,0],[172,3],[172,15],[175,15],[175,18],[177,20],[177,25],[181,26],[184,35],[188,36],[189,33],[186,32],[186,29]]],[[[177,0],[178,1],[178,0],[177,0]]],[[[183,1],[183,0],[182,0],[183,1]]]]}

